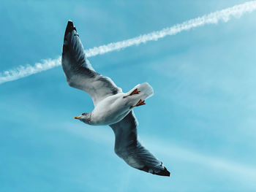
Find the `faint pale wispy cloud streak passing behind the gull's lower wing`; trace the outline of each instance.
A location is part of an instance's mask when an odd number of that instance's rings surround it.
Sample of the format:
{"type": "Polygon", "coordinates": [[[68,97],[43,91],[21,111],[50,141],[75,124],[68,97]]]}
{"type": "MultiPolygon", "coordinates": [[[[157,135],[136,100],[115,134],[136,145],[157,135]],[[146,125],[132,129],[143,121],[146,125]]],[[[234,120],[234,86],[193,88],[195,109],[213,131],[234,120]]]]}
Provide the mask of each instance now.
{"type": "MultiPolygon", "coordinates": [[[[90,139],[94,142],[102,142],[104,144],[114,145],[114,134],[108,129],[86,128],[85,131],[84,125],[73,126],[72,123],[68,122],[64,123],[63,126],[60,127],[62,130],[64,129],[71,132],[72,134],[78,135],[78,137],[90,139]]],[[[157,157],[161,155],[165,158],[165,160],[176,159],[178,161],[187,161],[192,162],[193,164],[200,164],[208,167],[208,169],[222,172],[222,174],[226,174],[230,177],[237,177],[239,180],[243,180],[244,183],[253,185],[255,183],[255,166],[244,165],[230,159],[199,153],[195,150],[190,150],[174,145],[173,143],[170,143],[164,139],[159,140],[152,137],[143,138],[144,141],[150,141],[146,143],[146,147],[148,147],[149,150],[156,151],[158,153],[157,157]]],[[[167,166],[167,161],[163,161],[163,163],[165,166],[167,166]]]]}

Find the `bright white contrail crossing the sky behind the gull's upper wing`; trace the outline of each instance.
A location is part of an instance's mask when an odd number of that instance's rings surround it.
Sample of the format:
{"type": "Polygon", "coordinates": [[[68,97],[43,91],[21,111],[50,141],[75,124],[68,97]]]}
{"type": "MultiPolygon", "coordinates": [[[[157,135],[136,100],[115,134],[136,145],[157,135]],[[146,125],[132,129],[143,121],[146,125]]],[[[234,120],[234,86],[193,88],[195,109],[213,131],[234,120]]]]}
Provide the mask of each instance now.
{"type": "MultiPolygon", "coordinates": [[[[246,12],[252,12],[256,9],[256,1],[248,1],[244,4],[238,4],[227,9],[222,9],[217,12],[211,12],[208,15],[203,15],[200,18],[187,20],[184,23],[176,24],[170,28],[163,28],[160,31],[153,31],[149,34],[143,34],[139,37],[127,39],[121,42],[113,42],[108,45],[102,45],[94,47],[89,50],[85,50],[87,57],[95,55],[102,55],[104,53],[111,52],[113,50],[120,50],[132,45],[140,45],[148,41],[157,41],[160,38],[175,35],[181,31],[188,31],[191,28],[204,26],[206,24],[218,23],[219,21],[227,22],[230,18],[240,18],[246,12]]],[[[61,56],[56,59],[43,60],[41,63],[34,64],[34,66],[18,66],[15,69],[10,69],[0,73],[0,84],[12,80],[18,80],[22,77],[29,76],[38,72],[42,72],[51,69],[55,66],[61,65],[61,56]]]]}

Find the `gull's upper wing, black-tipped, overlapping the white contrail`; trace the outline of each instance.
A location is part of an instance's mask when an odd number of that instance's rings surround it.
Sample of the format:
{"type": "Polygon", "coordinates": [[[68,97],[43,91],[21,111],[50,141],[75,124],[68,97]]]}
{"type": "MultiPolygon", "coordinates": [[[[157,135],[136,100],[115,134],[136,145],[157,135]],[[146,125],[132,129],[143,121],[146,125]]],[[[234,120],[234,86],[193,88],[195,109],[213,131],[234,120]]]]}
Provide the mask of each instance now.
{"type": "Polygon", "coordinates": [[[105,97],[121,92],[121,88],[118,88],[109,77],[102,76],[91,67],[78,32],[70,20],[64,35],[61,64],[67,83],[73,88],[89,93],[94,106],[105,97]]]}

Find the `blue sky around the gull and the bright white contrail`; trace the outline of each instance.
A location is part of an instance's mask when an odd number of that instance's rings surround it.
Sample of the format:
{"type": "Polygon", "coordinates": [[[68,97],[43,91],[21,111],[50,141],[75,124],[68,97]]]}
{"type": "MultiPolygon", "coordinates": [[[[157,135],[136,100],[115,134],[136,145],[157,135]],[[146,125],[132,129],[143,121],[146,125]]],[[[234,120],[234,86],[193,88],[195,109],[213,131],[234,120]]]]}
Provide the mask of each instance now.
{"type": "MultiPolygon", "coordinates": [[[[246,1],[1,1],[0,72],[61,55],[71,19],[85,49],[246,1]]],[[[138,134],[172,177],[132,169],[58,66],[0,84],[0,191],[256,191],[256,12],[90,57],[123,91],[149,82],[138,134]]]]}

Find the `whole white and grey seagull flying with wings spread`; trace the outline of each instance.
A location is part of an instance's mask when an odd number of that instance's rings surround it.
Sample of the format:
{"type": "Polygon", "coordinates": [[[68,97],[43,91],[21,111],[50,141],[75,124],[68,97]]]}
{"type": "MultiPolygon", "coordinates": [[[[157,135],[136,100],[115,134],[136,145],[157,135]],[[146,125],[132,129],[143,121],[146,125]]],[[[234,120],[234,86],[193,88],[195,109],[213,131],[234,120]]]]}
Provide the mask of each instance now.
{"type": "Polygon", "coordinates": [[[123,93],[113,80],[95,72],[72,20],[68,21],[64,34],[61,65],[68,85],[85,91],[94,102],[92,112],[83,112],[75,119],[91,126],[110,126],[116,137],[116,155],[135,169],[170,177],[164,164],[138,140],[138,121],[133,109],[146,104],[145,100],[153,95],[151,85],[144,82],[123,93]]]}

